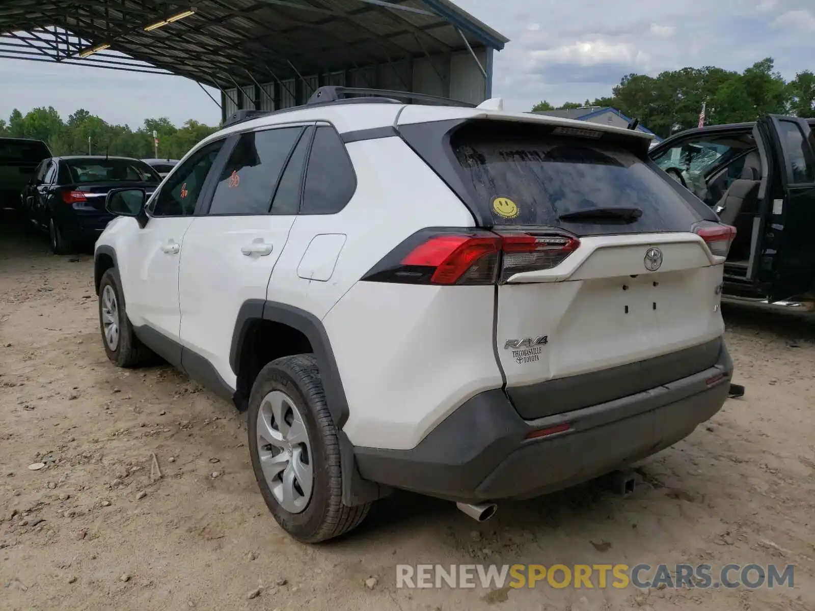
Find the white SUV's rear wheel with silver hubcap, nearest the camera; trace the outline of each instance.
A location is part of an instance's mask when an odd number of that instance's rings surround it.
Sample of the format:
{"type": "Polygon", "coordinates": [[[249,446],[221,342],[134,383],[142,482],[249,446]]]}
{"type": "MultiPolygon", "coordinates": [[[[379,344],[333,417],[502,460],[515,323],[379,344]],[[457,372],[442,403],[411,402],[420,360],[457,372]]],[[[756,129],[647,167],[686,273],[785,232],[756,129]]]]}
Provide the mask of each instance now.
{"type": "Polygon", "coordinates": [[[249,452],[263,500],[298,541],[319,543],[356,528],[371,503],[342,504],[337,428],[311,354],[278,358],[249,397],[249,452]]]}

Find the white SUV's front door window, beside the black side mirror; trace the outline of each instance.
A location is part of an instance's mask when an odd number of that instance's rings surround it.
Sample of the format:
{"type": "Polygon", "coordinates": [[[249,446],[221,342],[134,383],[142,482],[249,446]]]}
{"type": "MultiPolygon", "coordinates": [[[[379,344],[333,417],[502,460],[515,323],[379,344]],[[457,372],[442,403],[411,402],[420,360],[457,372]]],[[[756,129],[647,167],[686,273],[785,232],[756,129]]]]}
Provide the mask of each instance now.
{"type": "Polygon", "coordinates": [[[195,212],[204,181],[222,146],[223,140],[217,140],[193,153],[156,193],[150,204],[152,216],[182,217],[195,212]]]}

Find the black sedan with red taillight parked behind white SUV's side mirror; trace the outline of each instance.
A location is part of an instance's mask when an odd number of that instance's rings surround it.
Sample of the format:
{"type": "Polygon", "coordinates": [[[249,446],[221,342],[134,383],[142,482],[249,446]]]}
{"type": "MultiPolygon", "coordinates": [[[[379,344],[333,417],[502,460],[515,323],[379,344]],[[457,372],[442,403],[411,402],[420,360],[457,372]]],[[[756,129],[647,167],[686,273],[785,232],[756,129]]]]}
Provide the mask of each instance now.
{"type": "Polygon", "coordinates": [[[43,160],[24,188],[29,220],[51,238],[56,254],[69,254],[96,240],[113,215],[108,191],[142,187],[148,195],[161,177],[148,164],[128,157],[63,156],[43,160]]]}

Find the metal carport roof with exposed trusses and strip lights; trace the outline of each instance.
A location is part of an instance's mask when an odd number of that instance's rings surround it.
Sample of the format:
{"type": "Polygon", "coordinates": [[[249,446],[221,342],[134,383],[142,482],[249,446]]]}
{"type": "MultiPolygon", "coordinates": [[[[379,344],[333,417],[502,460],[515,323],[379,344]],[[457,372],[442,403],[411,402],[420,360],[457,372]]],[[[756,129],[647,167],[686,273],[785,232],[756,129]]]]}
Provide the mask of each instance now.
{"type": "Polygon", "coordinates": [[[2,58],[171,73],[221,90],[505,42],[449,0],[0,2],[2,58]]]}

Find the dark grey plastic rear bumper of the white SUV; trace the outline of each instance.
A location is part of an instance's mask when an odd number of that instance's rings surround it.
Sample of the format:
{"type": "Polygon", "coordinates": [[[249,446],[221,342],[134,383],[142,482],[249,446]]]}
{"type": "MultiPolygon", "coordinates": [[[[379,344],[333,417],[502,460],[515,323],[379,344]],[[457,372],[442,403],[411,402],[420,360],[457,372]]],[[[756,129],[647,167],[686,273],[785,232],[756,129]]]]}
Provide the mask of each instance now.
{"type": "Polygon", "coordinates": [[[359,474],[377,483],[462,502],[523,499],[574,486],[653,455],[720,410],[733,363],[628,397],[523,420],[503,390],[469,399],[407,451],[355,448],[359,474]],[[710,382],[716,376],[720,380],[710,382]],[[527,439],[568,423],[565,433],[527,439]]]}

